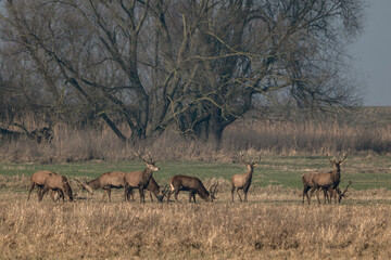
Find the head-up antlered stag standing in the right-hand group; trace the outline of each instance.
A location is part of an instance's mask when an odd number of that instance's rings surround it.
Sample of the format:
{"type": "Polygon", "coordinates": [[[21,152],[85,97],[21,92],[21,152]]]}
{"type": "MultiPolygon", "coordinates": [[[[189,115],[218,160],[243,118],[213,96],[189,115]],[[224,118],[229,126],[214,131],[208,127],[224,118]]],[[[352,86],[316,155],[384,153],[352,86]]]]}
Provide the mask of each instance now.
{"type": "MultiPolygon", "coordinates": [[[[343,154],[342,159],[331,159],[328,154],[326,154],[330,164],[333,166],[332,171],[329,172],[306,172],[302,174],[302,182],[304,185],[303,188],[303,202],[304,196],[307,197],[308,205],[311,204],[311,196],[313,193],[319,188],[328,191],[329,188],[336,190],[341,181],[341,165],[346,159],[346,154],[343,154]],[[308,191],[311,190],[311,195],[308,196],[308,191]]],[[[316,193],[318,203],[320,204],[319,194],[316,193]]],[[[325,193],[326,196],[326,193],[325,193]]]]}

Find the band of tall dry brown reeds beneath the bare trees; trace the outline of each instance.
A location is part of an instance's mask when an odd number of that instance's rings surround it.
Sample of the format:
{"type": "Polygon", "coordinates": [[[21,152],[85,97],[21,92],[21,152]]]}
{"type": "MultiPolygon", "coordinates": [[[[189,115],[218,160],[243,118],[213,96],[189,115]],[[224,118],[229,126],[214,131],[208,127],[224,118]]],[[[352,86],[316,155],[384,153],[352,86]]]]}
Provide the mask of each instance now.
{"type": "MultiPolygon", "coordinates": [[[[85,161],[91,159],[122,160],[134,157],[135,148],[153,151],[164,160],[227,161],[242,150],[264,155],[325,155],[348,151],[349,154],[384,154],[391,152],[391,108],[366,108],[342,118],[319,118],[294,121],[239,119],[223,133],[220,144],[185,140],[167,130],[140,146],[122,143],[104,126],[76,129],[59,122],[53,127],[51,143],[33,140],[0,141],[2,161],[85,161]]],[[[28,129],[46,126],[38,119],[23,120],[28,129]]],[[[125,126],[123,127],[125,131],[125,126]]],[[[130,134],[127,132],[126,134],[130,134]]]]}

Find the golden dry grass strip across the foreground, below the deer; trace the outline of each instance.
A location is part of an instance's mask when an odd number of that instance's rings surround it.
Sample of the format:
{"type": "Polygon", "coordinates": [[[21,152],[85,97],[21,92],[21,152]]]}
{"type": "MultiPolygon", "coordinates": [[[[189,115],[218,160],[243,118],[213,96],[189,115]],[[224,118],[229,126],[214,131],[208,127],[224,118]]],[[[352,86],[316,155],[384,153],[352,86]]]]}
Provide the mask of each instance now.
{"type": "MultiPolygon", "coordinates": [[[[112,203],[76,192],[41,204],[2,188],[1,259],[390,259],[390,192],[352,192],[341,205],[301,205],[300,191],[251,191],[230,203],[112,203]],[[386,203],[384,203],[386,202],[386,203]]],[[[236,198],[237,199],[237,198],[236,198]]],[[[136,199],[137,202],[137,199],[136,199]]]]}

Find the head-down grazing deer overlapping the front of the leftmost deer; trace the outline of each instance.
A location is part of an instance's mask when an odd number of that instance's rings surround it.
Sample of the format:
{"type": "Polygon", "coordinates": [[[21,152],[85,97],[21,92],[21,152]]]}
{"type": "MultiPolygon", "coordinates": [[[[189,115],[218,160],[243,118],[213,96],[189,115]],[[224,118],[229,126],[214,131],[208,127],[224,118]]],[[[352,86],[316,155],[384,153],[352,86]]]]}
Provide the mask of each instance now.
{"type": "MultiPolygon", "coordinates": [[[[48,191],[59,192],[60,197],[64,200],[64,194],[68,197],[70,202],[73,202],[73,194],[71,185],[66,179],[66,177],[60,174],[49,174],[49,177],[45,180],[43,188],[39,194],[39,202],[42,200],[42,197],[48,191]]],[[[54,197],[52,197],[54,200],[54,197]]]]}

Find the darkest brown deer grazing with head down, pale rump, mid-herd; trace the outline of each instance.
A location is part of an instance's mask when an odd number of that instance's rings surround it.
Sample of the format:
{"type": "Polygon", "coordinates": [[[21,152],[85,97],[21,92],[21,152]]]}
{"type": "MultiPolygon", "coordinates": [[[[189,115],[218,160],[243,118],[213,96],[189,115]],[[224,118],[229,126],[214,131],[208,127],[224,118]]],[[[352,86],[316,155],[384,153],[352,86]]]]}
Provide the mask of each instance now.
{"type": "Polygon", "coordinates": [[[188,176],[175,176],[169,179],[171,191],[167,195],[167,203],[169,203],[169,196],[175,192],[175,200],[178,202],[178,194],[180,191],[188,191],[189,193],[189,203],[193,198],[195,203],[195,194],[200,195],[205,202],[213,202],[216,199],[216,190],[217,183],[212,184],[210,191],[206,191],[205,186],[202,184],[201,180],[197,177],[188,176]]]}

